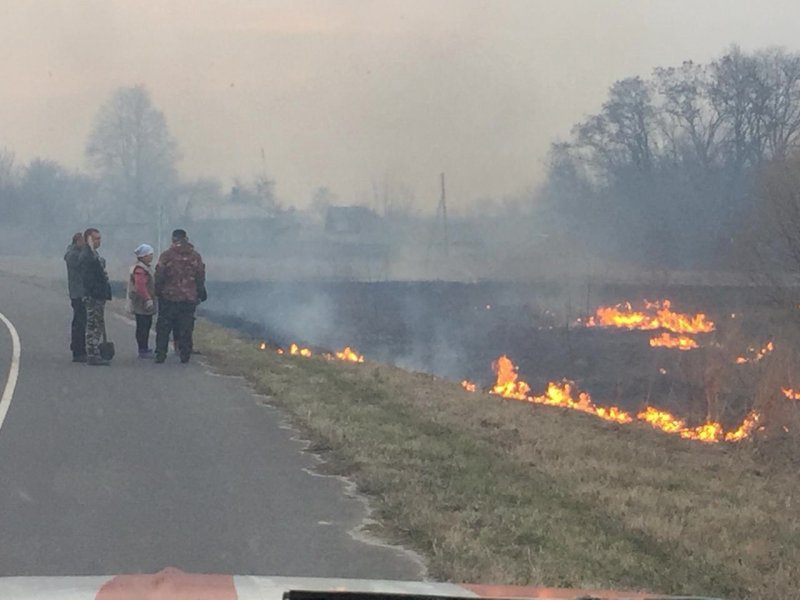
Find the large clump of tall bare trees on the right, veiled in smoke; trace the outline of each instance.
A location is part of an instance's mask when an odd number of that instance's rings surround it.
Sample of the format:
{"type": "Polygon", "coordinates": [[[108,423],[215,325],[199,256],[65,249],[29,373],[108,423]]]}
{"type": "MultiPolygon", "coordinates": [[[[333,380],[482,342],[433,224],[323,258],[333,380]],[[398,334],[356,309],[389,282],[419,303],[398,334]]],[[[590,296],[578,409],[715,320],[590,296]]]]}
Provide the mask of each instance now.
{"type": "Polygon", "coordinates": [[[615,82],[553,144],[552,226],[610,256],[720,265],[759,221],[760,174],[800,144],[800,54],[738,47],[615,82]]]}

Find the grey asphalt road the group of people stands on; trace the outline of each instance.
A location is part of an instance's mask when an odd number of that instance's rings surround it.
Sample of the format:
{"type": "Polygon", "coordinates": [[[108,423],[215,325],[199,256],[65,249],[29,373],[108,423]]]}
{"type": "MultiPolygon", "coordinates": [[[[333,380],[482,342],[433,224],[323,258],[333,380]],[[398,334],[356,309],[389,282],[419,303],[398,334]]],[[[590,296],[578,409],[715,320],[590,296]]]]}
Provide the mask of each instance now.
{"type": "MultiPolygon", "coordinates": [[[[121,300],[116,300],[121,303],[121,300]]],[[[0,576],[194,572],[419,579],[350,535],[366,516],[276,409],[199,361],[136,357],[107,312],[110,367],[71,362],[66,292],[0,273],[22,345],[0,428],[0,576]]],[[[0,323],[0,393],[11,338],[0,323]]]]}

